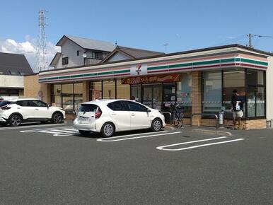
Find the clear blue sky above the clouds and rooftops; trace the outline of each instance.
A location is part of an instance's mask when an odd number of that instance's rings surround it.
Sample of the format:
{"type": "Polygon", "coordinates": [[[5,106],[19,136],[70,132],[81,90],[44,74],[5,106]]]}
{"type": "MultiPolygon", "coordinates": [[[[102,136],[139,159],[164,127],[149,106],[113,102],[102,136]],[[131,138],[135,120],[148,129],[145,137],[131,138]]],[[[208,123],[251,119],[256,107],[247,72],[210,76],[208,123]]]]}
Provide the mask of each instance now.
{"type": "MultiPolygon", "coordinates": [[[[0,41],[37,37],[37,15],[47,13],[47,40],[64,34],[164,52],[248,43],[248,33],[273,35],[273,1],[64,1],[13,0],[0,3],[0,41]]],[[[273,38],[253,39],[273,51],[273,38]]]]}

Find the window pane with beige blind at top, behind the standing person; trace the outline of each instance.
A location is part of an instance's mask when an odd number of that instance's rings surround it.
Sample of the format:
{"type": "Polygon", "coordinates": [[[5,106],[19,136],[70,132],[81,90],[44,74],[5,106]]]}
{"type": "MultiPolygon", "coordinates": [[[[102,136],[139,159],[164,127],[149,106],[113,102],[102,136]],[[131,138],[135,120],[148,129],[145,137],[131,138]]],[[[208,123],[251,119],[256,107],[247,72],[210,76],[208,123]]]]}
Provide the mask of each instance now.
{"type": "MultiPolygon", "coordinates": [[[[223,71],[223,110],[225,118],[232,119],[231,98],[233,90],[245,98],[245,69],[230,69],[223,71]]],[[[243,105],[245,115],[245,103],[243,105]]]]}

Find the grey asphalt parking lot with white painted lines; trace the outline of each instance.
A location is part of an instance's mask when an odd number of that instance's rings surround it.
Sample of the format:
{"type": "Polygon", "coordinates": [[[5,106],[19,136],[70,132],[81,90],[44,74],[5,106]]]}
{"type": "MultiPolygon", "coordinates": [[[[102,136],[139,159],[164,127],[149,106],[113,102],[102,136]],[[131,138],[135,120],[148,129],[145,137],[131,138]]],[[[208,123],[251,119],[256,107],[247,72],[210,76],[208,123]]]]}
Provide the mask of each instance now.
{"type": "Polygon", "coordinates": [[[0,127],[0,204],[272,204],[273,130],[199,129],[0,127]]]}

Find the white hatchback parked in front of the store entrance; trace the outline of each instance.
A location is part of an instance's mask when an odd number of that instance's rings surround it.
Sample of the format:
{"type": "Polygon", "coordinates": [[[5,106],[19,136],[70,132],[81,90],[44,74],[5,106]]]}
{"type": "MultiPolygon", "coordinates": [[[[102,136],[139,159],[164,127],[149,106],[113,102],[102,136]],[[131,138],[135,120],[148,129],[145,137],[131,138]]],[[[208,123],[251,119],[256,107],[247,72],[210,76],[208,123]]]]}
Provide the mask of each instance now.
{"type": "Polygon", "coordinates": [[[158,110],[132,100],[95,100],[84,102],[74,120],[74,128],[81,134],[98,132],[110,137],[115,131],[165,127],[165,117],[158,110]]]}

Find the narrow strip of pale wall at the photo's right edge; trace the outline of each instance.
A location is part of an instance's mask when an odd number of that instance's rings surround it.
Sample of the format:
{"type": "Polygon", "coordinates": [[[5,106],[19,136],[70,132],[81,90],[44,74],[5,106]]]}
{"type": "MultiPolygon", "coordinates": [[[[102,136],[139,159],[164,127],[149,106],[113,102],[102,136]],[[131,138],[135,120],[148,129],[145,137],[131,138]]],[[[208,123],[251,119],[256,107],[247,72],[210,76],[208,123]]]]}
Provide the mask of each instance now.
{"type": "Polygon", "coordinates": [[[267,120],[273,119],[273,57],[268,58],[267,69],[267,120]]]}

